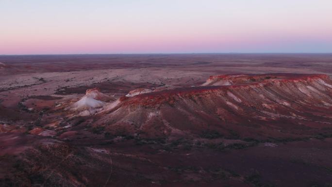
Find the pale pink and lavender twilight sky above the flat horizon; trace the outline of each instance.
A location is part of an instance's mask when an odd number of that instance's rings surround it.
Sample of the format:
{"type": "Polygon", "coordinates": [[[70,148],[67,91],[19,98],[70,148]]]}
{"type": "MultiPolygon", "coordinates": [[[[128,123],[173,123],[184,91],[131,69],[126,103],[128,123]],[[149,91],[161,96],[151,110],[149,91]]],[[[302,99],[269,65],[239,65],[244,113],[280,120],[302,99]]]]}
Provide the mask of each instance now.
{"type": "Polygon", "coordinates": [[[332,0],[0,0],[0,54],[332,52],[332,0]]]}

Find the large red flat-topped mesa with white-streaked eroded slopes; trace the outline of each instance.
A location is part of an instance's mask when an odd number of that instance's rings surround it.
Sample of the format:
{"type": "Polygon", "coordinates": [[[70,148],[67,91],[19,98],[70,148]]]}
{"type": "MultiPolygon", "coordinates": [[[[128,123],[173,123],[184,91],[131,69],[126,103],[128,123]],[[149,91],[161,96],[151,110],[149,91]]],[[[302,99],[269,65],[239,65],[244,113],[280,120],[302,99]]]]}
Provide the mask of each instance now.
{"type": "Polygon", "coordinates": [[[327,75],[223,75],[210,77],[205,85],[123,97],[98,114],[96,124],[113,133],[145,136],[214,130],[263,138],[315,134],[332,124],[327,75]]]}

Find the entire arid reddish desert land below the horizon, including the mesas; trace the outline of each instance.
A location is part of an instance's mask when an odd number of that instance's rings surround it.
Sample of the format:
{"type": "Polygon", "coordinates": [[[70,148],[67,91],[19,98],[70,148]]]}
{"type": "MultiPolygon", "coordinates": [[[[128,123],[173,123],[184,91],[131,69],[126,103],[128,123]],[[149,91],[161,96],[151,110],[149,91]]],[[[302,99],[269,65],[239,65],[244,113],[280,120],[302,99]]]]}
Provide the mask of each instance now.
{"type": "Polygon", "coordinates": [[[332,54],[0,56],[1,187],[332,187],[332,54]]]}

